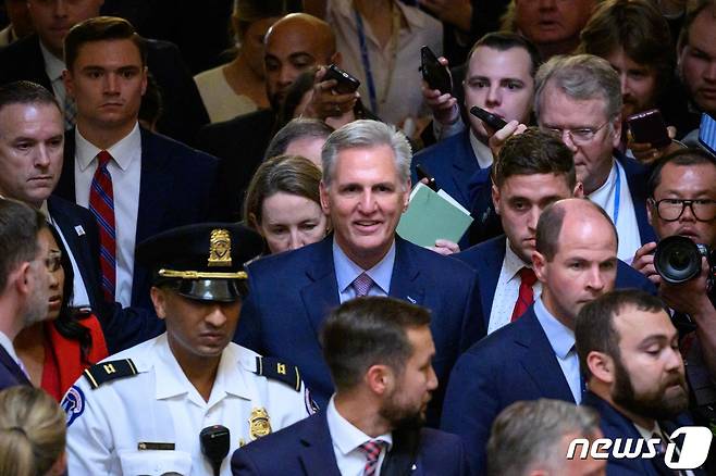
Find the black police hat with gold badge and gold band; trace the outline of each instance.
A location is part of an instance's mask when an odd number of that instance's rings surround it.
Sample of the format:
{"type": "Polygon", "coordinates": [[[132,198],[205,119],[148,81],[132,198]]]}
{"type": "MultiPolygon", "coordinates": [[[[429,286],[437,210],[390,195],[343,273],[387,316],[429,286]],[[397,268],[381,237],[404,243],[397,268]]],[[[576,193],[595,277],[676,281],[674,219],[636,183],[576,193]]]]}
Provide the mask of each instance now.
{"type": "Polygon", "coordinates": [[[261,237],[235,223],[200,223],[162,231],[137,247],[137,263],[151,270],[156,285],[200,301],[232,302],[246,279],[244,263],[261,252],[261,237]]]}

